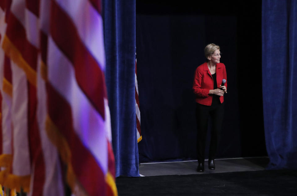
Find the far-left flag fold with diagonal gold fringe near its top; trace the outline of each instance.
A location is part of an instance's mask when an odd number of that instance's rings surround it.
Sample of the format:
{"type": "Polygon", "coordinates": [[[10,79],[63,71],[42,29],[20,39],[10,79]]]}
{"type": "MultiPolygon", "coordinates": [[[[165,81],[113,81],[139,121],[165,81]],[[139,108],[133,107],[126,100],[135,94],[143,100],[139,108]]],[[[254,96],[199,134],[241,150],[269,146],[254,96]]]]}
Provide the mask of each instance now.
{"type": "Polygon", "coordinates": [[[38,32],[38,9],[36,11],[31,3],[25,0],[6,1],[7,28],[1,45],[11,59],[12,72],[12,169],[5,184],[18,191],[22,188],[25,192],[29,191],[30,181],[42,183],[44,179],[36,119],[38,41],[34,36],[38,32]],[[30,179],[32,165],[38,167],[34,180],[30,179]]]}

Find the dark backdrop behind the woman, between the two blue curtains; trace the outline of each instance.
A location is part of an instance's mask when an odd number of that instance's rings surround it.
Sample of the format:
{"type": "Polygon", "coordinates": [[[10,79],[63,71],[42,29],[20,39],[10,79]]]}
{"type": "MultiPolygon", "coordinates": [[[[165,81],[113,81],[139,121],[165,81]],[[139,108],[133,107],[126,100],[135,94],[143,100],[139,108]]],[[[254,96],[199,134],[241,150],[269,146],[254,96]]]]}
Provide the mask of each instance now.
{"type": "Polygon", "coordinates": [[[171,3],[168,7],[160,2],[136,1],[141,162],[196,158],[192,83],[195,69],[205,61],[204,47],[208,43],[221,47],[228,80],[217,157],[266,155],[261,105],[261,9],[253,4],[252,11],[246,11],[249,5],[219,3],[209,14],[205,6],[171,3]]]}

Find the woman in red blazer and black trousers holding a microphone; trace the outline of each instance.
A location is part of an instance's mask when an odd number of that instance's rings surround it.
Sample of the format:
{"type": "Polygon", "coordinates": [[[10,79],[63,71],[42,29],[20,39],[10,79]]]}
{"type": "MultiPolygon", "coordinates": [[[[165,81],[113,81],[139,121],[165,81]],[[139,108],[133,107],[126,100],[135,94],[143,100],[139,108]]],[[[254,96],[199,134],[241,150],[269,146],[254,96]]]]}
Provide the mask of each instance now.
{"type": "Polygon", "coordinates": [[[211,140],[209,146],[209,169],[214,170],[214,159],[217,151],[223,115],[224,94],[227,93],[226,68],[220,63],[220,47],[209,44],[204,49],[207,62],[196,68],[193,90],[196,95],[196,121],[197,121],[197,172],[204,172],[204,151],[207,136],[209,115],[212,121],[211,140]],[[221,86],[222,85],[222,86],[221,86]]]}

